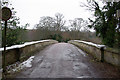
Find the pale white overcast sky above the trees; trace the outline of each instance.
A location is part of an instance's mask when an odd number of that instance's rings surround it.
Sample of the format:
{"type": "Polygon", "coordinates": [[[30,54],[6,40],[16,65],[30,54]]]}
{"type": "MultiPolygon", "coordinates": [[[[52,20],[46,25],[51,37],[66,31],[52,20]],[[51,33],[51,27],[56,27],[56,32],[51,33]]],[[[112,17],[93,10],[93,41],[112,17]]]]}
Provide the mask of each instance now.
{"type": "MultiPolygon", "coordinates": [[[[89,11],[80,7],[81,2],[86,0],[9,0],[17,11],[21,25],[30,24],[32,29],[42,16],[54,17],[55,13],[62,13],[65,20],[83,18],[87,20],[91,17],[89,11]]],[[[68,22],[67,22],[68,23],[68,22]]],[[[68,24],[66,24],[68,25],[68,24]]]]}

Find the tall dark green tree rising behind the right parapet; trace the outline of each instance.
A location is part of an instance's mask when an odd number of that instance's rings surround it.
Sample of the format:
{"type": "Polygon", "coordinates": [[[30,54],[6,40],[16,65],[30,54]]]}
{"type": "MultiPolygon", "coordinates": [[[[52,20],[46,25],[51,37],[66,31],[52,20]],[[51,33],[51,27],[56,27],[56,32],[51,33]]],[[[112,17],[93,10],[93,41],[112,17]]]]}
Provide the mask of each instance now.
{"type": "Polygon", "coordinates": [[[120,24],[116,17],[116,12],[120,9],[120,1],[105,2],[101,0],[97,2],[97,0],[87,0],[87,4],[82,6],[94,13],[95,20],[89,19],[91,24],[88,27],[96,30],[96,34],[102,39],[102,43],[109,47],[120,48],[120,24]],[[100,6],[100,2],[102,6],[100,6]]]}

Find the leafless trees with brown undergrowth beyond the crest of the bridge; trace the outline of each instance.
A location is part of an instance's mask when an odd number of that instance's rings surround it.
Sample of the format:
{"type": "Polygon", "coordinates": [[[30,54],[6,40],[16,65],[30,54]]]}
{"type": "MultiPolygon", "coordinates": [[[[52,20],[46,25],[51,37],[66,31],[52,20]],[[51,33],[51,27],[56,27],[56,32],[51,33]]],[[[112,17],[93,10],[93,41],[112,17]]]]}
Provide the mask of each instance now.
{"type": "MultiPolygon", "coordinates": [[[[87,41],[100,40],[94,36],[95,33],[89,31],[88,22],[82,18],[69,20],[69,25],[65,25],[64,15],[56,13],[54,17],[43,16],[38,24],[34,26],[34,30],[30,30],[30,35],[34,35],[31,40],[54,39],[59,42],[67,42],[69,40],[81,39],[87,41]],[[93,40],[93,38],[96,39],[93,40]]],[[[30,39],[29,37],[28,39],[30,39]]]]}

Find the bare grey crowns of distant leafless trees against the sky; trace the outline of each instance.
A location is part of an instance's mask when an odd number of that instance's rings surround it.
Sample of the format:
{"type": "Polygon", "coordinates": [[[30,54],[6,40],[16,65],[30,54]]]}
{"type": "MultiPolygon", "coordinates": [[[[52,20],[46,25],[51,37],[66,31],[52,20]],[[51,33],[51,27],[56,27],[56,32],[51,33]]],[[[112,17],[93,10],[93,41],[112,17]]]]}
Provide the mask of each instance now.
{"type": "Polygon", "coordinates": [[[64,20],[64,15],[61,13],[56,13],[55,17],[43,16],[40,18],[38,24],[34,26],[35,29],[49,29],[54,31],[80,31],[81,28],[88,30],[87,21],[83,18],[75,18],[74,20],[69,20],[69,25],[65,26],[66,20],[64,20]]]}

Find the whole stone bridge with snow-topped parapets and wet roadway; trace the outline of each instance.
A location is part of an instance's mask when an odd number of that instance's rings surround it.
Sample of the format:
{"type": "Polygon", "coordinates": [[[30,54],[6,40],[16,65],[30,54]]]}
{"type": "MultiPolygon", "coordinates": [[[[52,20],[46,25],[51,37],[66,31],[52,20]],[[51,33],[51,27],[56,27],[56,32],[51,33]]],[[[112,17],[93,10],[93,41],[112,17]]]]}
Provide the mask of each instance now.
{"type": "Polygon", "coordinates": [[[80,40],[7,47],[5,62],[7,78],[120,78],[119,51],[80,40]]]}

